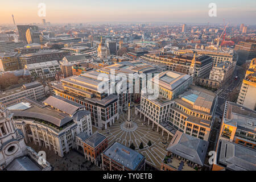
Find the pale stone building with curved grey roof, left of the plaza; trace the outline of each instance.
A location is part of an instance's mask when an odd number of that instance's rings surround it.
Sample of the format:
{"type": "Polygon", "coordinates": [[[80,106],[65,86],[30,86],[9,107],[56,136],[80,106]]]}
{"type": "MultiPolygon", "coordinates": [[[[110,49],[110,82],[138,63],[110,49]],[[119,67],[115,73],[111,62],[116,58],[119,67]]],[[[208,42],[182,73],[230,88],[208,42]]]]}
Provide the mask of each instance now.
{"type": "Polygon", "coordinates": [[[13,113],[15,126],[22,131],[26,143],[43,146],[60,157],[76,148],[77,134],[92,134],[90,112],[62,97],[50,96],[43,104],[23,98],[7,108],[13,113]]]}

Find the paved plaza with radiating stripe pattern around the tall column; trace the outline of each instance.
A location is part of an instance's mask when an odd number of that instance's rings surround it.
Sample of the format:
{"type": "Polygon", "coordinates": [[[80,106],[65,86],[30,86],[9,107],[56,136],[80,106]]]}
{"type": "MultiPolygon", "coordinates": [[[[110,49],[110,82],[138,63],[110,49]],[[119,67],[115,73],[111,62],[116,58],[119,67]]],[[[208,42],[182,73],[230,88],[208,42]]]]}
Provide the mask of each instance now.
{"type": "Polygon", "coordinates": [[[108,137],[109,146],[114,142],[119,142],[127,147],[133,143],[135,150],[146,156],[146,162],[151,166],[160,169],[160,164],[167,154],[166,148],[172,137],[167,141],[167,134],[162,137],[162,131],[156,132],[156,125],[152,129],[152,123],[147,125],[139,116],[135,115],[134,107],[131,110],[133,122],[137,125],[135,130],[127,131],[123,129],[122,124],[127,119],[127,113],[119,114],[119,119],[107,130],[98,130],[99,133],[108,137]],[[151,146],[147,146],[148,141],[151,146]],[[143,143],[144,148],[139,150],[139,144],[143,143]]]}

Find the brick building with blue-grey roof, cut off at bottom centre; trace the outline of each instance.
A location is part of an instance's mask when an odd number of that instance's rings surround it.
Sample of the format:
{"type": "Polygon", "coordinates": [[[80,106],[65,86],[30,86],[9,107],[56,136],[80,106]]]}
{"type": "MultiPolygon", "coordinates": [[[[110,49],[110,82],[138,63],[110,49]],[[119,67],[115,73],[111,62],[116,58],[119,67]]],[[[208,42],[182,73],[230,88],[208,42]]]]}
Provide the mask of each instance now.
{"type": "Polygon", "coordinates": [[[102,154],[104,171],[144,171],[146,158],[139,152],[115,142],[102,154]]]}

